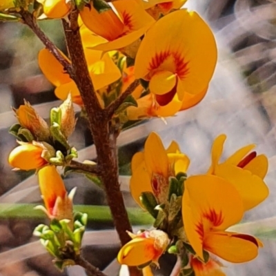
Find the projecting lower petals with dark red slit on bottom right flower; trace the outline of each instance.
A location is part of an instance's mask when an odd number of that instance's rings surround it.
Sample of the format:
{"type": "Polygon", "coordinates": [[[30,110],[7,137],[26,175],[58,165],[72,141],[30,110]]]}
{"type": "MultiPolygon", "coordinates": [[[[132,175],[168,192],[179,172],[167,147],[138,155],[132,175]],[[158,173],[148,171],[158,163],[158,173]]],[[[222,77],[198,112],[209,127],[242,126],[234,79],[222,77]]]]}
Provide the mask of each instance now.
{"type": "Polygon", "coordinates": [[[210,232],[204,237],[204,248],[232,263],[248,262],[258,255],[255,237],[239,233],[210,232]]]}

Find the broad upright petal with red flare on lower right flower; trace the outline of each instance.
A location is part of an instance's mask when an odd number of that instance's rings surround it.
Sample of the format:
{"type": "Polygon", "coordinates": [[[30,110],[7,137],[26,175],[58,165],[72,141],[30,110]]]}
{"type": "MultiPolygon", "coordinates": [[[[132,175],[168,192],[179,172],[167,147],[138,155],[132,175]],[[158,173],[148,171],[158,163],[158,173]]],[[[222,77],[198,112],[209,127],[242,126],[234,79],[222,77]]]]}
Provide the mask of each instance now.
{"type": "Polygon", "coordinates": [[[215,175],[197,175],[185,181],[182,214],[188,241],[203,259],[205,234],[211,229],[225,230],[239,222],[244,206],[228,181],[215,175]]]}

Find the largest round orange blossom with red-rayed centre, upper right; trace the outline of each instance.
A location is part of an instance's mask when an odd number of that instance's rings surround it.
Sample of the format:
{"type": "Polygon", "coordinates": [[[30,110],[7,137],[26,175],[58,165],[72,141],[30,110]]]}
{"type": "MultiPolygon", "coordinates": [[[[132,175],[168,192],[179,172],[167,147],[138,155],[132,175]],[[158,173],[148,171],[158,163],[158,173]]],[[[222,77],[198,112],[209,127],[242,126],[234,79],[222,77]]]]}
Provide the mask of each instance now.
{"type": "Polygon", "coordinates": [[[146,32],[135,59],[135,77],[149,81],[159,106],[178,103],[170,110],[175,114],[185,95],[190,99],[206,90],[216,62],[217,47],[208,25],[196,12],[177,10],[146,32]]]}

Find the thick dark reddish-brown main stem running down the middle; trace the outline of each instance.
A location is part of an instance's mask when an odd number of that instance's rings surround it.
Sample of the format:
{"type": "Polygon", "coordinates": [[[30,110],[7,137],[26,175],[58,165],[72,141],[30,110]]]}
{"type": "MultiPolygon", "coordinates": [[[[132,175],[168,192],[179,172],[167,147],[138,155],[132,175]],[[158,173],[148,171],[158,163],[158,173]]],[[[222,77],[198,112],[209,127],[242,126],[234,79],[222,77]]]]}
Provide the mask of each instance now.
{"type": "Polygon", "coordinates": [[[97,149],[97,164],[101,168],[101,181],[106,190],[106,199],[108,206],[110,206],[115,228],[119,234],[121,244],[124,245],[130,241],[126,230],[132,231],[132,228],[120,190],[117,157],[114,155],[116,144],[111,137],[110,118],[107,117],[106,110],[103,110],[99,105],[90,79],[79,34],[79,26],[77,26],[77,14],[77,10],[71,12],[69,16],[70,23],[63,20],[63,29],[73,67],[72,79],[77,83],[86,108],[90,130],[97,149]]]}

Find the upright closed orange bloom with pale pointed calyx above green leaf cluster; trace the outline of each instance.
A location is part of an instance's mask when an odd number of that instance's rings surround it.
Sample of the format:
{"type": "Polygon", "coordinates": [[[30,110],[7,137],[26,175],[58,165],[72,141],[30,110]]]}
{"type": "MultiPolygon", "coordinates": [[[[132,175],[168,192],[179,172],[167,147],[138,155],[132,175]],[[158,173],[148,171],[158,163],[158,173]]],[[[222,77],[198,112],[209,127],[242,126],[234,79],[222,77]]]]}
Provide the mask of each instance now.
{"type": "Polygon", "coordinates": [[[63,180],[55,166],[46,166],[38,172],[39,187],[50,219],[70,219],[72,221],[73,189],[67,195],[63,180]]]}

